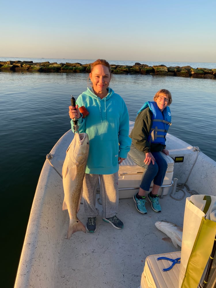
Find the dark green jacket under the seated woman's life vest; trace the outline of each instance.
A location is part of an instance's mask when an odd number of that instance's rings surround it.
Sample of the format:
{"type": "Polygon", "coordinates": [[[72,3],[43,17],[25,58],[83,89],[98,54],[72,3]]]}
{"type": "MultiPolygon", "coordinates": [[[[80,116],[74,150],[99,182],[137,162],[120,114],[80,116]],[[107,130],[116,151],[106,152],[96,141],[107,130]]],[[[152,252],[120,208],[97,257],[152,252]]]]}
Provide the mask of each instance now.
{"type": "Polygon", "coordinates": [[[135,120],[134,128],[130,133],[130,138],[134,146],[145,153],[148,152],[160,152],[166,145],[162,145],[160,143],[149,143],[147,141],[149,136],[149,131],[152,126],[152,112],[149,107],[141,111],[135,120]]]}

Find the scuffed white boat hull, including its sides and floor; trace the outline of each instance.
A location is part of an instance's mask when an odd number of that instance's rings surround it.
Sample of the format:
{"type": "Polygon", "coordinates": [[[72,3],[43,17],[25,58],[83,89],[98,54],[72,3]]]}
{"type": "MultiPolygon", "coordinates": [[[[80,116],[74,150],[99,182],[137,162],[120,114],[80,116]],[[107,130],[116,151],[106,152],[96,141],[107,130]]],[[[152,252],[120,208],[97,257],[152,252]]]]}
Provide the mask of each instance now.
{"type": "MultiPolygon", "coordinates": [[[[132,128],[133,122],[130,126],[132,128]]],[[[50,151],[50,162],[60,174],[72,138],[73,133],[66,132],[50,151]]],[[[167,148],[174,159],[184,156],[184,162],[174,164],[173,177],[177,177],[179,183],[187,181],[191,190],[215,195],[215,161],[170,134],[167,148]]],[[[146,203],[146,215],[136,210],[132,198],[120,199],[117,216],[124,223],[122,230],[114,229],[98,216],[95,233],[77,232],[68,240],[69,216],[67,211],[62,211],[64,191],[56,170],[45,161],[32,204],[15,288],[137,288],[148,255],[177,250],[171,242],[162,240],[164,234],[154,225],[162,219],[183,225],[185,200],[176,201],[169,195],[160,200],[161,213],[155,213],[150,203],[146,203]]],[[[181,191],[174,192],[175,197],[179,194],[181,191]]],[[[97,208],[101,215],[98,203],[97,208]]],[[[87,220],[82,205],[79,219],[83,223],[87,220]]]]}

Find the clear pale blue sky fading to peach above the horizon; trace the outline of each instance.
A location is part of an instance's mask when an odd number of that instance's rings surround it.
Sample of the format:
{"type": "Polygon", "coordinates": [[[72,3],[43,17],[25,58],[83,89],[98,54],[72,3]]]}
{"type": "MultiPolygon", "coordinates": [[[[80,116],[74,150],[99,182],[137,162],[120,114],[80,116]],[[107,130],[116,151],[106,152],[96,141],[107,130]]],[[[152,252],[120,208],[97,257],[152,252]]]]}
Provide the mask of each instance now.
{"type": "Polygon", "coordinates": [[[1,0],[0,57],[216,62],[216,0],[1,0]]]}

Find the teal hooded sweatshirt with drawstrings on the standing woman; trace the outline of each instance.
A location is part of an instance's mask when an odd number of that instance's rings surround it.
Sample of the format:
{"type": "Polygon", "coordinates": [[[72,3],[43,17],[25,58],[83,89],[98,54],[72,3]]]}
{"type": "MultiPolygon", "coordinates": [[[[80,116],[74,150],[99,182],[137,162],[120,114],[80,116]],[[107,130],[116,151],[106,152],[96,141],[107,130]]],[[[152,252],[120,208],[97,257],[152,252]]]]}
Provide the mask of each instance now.
{"type": "MultiPolygon", "coordinates": [[[[89,112],[78,119],[79,133],[89,137],[87,174],[113,174],[118,171],[118,157],[126,158],[130,150],[129,116],[122,97],[108,88],[101,99],[92,88],[79,95],[76,104],[89,112]]],[[[82,114],[81,114],[82,115],[82,114]]],[[[71,120],[73,131],[73,120],[71,120]]]]}

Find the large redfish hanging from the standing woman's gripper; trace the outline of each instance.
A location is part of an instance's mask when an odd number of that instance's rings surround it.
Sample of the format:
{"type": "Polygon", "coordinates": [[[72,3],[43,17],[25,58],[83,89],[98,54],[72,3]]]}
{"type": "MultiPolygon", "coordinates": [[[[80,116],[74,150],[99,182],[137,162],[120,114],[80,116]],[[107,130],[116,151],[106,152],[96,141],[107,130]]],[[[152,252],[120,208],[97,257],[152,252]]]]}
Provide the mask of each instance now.
{"type": "Polygon", "coordinates": [[[83,223],[77,218],[79,204],[82,198],[83,178],[89,152],[89,139],[86,133],[75,133],[74,138],[66,151],[62,167],[62,179],[65,198],[63,210],[68,210],[70,222],[67,238],[76,231],[86,232],[83,223]]]}

